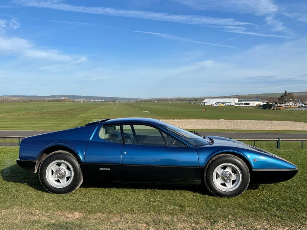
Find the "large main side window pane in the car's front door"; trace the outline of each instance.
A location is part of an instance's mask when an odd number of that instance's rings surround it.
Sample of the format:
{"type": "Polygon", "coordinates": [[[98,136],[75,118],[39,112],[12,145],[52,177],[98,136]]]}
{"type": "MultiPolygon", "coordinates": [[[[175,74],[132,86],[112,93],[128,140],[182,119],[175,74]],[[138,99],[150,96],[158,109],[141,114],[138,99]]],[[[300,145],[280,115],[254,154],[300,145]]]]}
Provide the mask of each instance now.
{"type": "Polygon", "coordinates": [[[157,128],[148,125],[123,125],[125,144],[166,146],[157,128]]]}

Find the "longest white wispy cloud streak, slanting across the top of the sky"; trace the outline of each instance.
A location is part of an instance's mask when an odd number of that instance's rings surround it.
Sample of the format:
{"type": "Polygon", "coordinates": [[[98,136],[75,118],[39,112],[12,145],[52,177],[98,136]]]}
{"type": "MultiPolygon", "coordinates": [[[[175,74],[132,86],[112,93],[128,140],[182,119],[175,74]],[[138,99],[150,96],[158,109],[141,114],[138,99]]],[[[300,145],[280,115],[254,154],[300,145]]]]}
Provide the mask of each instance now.
{"type": "Polygon", "coordinates": [[[191,25],[253,25],[249,22],[236,21],[232,18],[215,18],[197,15],[174,15],[168,13],[155,13],[138,10],[119,10],[109,7],[86,7],[74,6],[60,1],[39,1],[39,0],[15,0],[17,4],[30,7],[64,10],[78,13],[104,14],[110,16],[132,17],[150,19],[155,21],[170,21],[191,25]]]}

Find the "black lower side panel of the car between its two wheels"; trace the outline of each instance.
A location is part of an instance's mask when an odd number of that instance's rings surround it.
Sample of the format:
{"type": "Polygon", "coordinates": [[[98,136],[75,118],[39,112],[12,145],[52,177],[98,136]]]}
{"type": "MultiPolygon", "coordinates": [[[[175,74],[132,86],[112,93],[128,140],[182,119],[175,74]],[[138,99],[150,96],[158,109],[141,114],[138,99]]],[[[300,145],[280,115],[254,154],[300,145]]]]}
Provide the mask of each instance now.
{"type": "Polygon", "coordinates": [[[199,185],[204,174],[202,167],[127,167],[100,163],[82,163],[82,171],[85,181],[171,185],[199,185]]]}

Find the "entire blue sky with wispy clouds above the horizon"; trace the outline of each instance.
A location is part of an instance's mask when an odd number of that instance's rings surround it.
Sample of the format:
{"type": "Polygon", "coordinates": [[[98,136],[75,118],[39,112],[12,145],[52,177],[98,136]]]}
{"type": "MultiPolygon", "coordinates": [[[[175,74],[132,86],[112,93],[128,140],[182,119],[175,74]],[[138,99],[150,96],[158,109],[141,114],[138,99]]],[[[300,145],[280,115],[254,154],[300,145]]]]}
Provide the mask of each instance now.
{"type": "Polygon", "coordinates": [[[307,2],[2,0],[0,95],[307,91],[307,2]]]}

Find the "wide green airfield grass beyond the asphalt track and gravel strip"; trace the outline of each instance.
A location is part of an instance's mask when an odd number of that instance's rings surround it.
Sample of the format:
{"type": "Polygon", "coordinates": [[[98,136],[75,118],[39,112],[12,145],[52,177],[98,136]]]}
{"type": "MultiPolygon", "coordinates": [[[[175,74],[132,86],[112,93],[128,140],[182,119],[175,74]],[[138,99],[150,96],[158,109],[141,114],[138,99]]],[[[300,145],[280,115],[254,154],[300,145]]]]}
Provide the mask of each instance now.
{"type": "Polygon", "coordinates": [[[0,104],[0,130],[61,130],[109,117],[307,122],[307,111],[212,107],[186,102],[0,104]]]}

